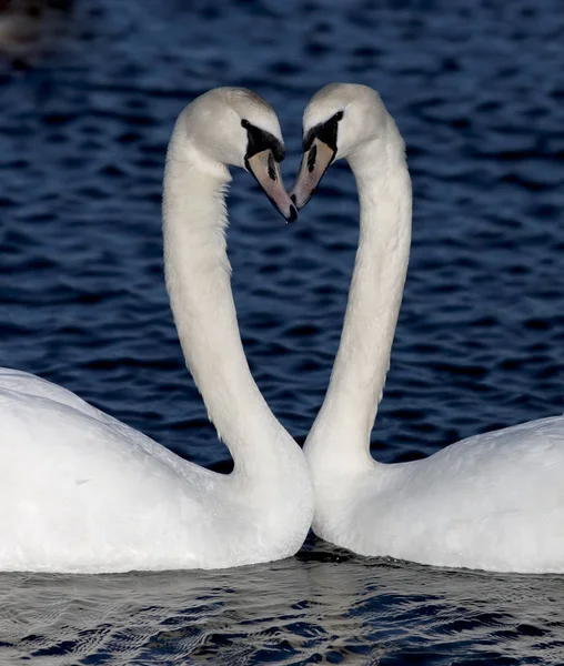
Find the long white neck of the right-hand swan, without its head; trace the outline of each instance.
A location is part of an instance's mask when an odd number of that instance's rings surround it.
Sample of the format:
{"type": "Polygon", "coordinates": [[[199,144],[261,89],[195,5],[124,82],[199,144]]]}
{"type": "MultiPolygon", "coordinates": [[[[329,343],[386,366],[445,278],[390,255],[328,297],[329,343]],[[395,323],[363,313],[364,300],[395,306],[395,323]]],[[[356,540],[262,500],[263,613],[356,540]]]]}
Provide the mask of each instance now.
{"type": "Polygon", "coordinates": [[[321,411],[308,437],[328,464],[365,465],[382,397],[407,271],[411,181],[393,121],[386,139],[349,159],[361,205],[359,249],[339,352],[321,411]]]}

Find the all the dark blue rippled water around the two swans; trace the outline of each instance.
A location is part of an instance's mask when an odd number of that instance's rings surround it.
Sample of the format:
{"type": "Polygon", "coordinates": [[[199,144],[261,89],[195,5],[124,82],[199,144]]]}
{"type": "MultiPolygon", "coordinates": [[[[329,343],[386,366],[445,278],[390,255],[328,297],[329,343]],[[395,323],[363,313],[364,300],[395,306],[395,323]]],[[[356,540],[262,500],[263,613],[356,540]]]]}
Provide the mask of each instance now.
{"type": "MultiPolygon", "coordinates": [[[[561,0],[52,4],[64,11],[0,21],[0,365],[229,468],[162,279],[172,123],[212,87],[256,90],[280,115],[290,184],[311,94],[356,81],[395,117],[415,198],[374,454],[411,460],[564,411],[561,0]]],[[[236,173],[230,214],[245,350],[303,441],[339,342],[354,183],[332,168],[284,226],[236,173]]],[[[0,575],[0,601],[1,664],[564,663],[561,577],[371,562],[314,539],[220,573],[0,575]]]]}

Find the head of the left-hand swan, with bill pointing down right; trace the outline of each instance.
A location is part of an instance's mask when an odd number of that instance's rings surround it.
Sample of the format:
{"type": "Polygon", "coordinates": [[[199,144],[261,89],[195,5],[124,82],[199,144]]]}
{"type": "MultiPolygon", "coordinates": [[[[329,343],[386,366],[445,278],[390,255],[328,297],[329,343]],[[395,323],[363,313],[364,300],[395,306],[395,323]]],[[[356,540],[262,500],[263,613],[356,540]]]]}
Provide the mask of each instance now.
{"type": "Polygon", "coordinates": [[[249,171],[286,221],[295,220],[298,212],[280,172],[285,154],[282,132],[268,102],[244,88],[215,88],[189,104],[179,121],[211,170],[249,171]]]}

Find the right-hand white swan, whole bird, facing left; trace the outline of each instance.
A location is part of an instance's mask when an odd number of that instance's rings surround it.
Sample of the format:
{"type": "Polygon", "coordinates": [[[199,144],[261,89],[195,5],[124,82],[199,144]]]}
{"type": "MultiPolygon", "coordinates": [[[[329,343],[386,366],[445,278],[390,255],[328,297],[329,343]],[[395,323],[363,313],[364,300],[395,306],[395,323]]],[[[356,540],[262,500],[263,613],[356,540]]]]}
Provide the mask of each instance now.
{"type": "Polygon", "coordinates": [[[362,555],[500,572],[564,572],[564,418],[470,437],[421,461],[370,455],[407,270],[404,143],[370,88],[331,84],[304,113],[299,208],[345,158],[361,230],[339,353],[305,443],[314,532],[362,555]]]}

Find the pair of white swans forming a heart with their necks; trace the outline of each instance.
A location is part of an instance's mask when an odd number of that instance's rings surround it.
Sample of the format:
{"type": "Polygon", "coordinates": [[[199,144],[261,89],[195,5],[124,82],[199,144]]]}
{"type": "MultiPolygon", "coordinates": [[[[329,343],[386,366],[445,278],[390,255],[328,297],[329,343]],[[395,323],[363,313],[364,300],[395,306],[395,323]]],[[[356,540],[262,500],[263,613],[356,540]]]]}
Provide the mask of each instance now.
{"type": "Polygon", "coordinates": [[[1,371],[0,569],[253,564],[294,554],[313,524],[362,555],[564,572],[564,418],[471,437],[412,463],[370,455],[412,205],[404,143],[379,95],[332,84],[311,100],[291,198],[283,155],[273,110],[229,88],[184,109],[167,155],[167,286],[232,474],[181,460],[64,389],[1,371]],[[241,344],[224,240],[228,165],[250,171],[293,220],[340,158],[359,188],[360,242],[330,386],[302,453],[265,404],[241,344]]]}

